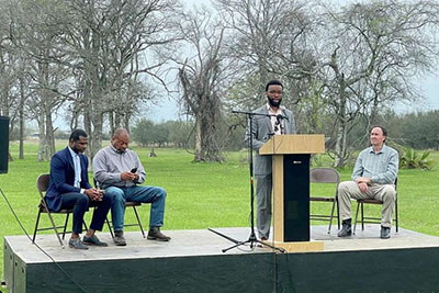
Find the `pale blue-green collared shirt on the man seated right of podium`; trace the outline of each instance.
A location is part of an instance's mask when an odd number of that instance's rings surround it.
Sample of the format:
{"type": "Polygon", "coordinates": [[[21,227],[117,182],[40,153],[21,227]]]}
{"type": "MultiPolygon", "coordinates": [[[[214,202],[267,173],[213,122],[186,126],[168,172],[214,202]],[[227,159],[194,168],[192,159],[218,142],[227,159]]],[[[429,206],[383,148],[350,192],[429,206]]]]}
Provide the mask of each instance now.
{"type": "Polygon", "coordinates": [[[398,153],[386,145],[383,145],[379,153],[375,153],[373,147],[368,147],[357,158],[352,180],[367,177],[372,183],[393,184],[398,171],[398,153]]]}

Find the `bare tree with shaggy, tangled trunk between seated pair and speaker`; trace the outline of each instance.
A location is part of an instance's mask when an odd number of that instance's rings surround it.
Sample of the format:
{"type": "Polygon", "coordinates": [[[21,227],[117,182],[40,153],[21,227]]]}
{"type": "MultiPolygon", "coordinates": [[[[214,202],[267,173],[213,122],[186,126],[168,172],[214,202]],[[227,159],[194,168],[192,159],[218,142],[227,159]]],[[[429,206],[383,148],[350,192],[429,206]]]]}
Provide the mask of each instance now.
{"type": "Polygon", "coordinates": [[[221,87],[225,79],[224,29],[207,10],[182,15],[181,32],[192,56],[176,59],[181,67],[182,102],[195,119],[195,161],[222,161],[219,144],[221,87]]]}

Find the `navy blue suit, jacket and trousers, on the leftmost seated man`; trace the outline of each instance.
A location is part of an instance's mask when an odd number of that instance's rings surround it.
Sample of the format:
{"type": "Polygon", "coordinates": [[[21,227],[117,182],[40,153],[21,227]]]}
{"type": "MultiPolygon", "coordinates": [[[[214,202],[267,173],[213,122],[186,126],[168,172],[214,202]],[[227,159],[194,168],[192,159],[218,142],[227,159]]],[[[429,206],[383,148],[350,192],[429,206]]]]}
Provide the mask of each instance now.
{"type": "Polygon", "coordinates": [[[88,158],[79,154],[81,164],[80,188],[75,184],[75,165],[70,150],[66,147],[56,153],[50,160],[50,180],[46,192],[46,203],[50,211],[74,209],[74,227],[77,234],[82,233],[83,214],[89,206],[97,206],[90,224],[91,229],[102,230],[106,214],[114,196],[104,195],[102,201],[90,201],[89,196],[80,193],[81,189],[91,189],[88,177],[88,158]]]}

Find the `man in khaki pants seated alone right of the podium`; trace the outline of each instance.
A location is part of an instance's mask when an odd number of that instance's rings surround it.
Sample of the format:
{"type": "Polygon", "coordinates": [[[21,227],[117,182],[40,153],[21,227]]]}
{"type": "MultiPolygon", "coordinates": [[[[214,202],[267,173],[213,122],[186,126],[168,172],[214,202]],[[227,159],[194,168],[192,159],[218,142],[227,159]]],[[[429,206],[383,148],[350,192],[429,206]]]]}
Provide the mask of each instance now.
{"type": "Polygon", "coordinates": [[[342,228],[338,237],[352,234],[350,199],[374,199],[383,202],[380,237],[391,237],[392,213],[395,206],[395,179],[398,171],[398,154],[384,143],[387,131],[374,126],[370,133],[371,147],[363,149],[357,158],[352,181],[344,181],[338,187],[338,204],[342,228]]]}

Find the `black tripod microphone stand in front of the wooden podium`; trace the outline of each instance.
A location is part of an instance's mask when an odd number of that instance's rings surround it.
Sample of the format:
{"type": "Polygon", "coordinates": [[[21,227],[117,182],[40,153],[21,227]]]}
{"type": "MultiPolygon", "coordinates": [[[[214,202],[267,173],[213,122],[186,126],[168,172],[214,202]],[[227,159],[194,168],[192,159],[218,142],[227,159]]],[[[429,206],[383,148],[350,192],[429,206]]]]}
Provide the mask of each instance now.
{"type": "Polygon", "coordinates": [[[229,237],[227,235],[224,235],[224,234],[222,234],[219,232],[216,232],[216,230],[214,230],[212,228],[209,228],[209,230],[219,235],[221,237],[223,237],[223,238],[225,238],[225,239],[227,239],[227,240],[229,240],[232,243],[235,243],[235,245],[233,245],[233,246],[230,246],[228,248],[222,249],[223,252],[226,252],[226,251],[228,251],[228,250],[230,250],[233,248],[236,248],[236,247],[239,247],[239,246],[246,245],[246,244],[250,244],[250,248],[256,247],[255,244],[260,244],[261,246],[270,247],[270,248],[272,248],[274,250],[278,250],[278,251],[283,253],[283,252],[285,252],[285,250],[283,248],[274,247],[274,246],[272,246],[270,244],[261,241],[258,238],[256,238],[256,234],[255,234],[255,207],[254,207],[254,204],[255,204],[254,182],[255,182],[255,180],[254,180],[254,153],[252,153],[252,150],[254,150],[254,135],[252,135],[254,116],[268,116],[268,117],[271,117],[271,116],[275,116],[275,115],[260,114],[260,113],[252,113],[252,112],[243,112],[243,111],[232,111],[232,113],[246,114],[246,115],[248,115],[248,120],[249,120],[250,144],[249,144],[248,155],[250,157],[250,164],[249,164],[249,168],[250,168],[250,236],[248,237],[247,240],[239,241],[239,240],[236,240],[236,239],[234,239],[234,238],[232,238],[232,237],[229,237]]]}

